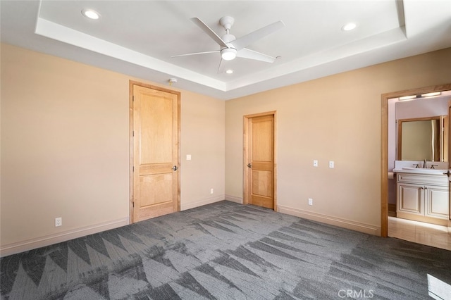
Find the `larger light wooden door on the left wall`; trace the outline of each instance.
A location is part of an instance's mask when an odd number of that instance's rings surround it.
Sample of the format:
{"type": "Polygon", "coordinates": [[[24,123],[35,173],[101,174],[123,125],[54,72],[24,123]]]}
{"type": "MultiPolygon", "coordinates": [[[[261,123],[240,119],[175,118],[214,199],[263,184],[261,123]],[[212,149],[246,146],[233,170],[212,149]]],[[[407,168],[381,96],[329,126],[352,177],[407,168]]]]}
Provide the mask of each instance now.
{"type": "Polygon", "coordinates": [[[131,83],[132,222],[180,210],[180,94],[131,83]]]}

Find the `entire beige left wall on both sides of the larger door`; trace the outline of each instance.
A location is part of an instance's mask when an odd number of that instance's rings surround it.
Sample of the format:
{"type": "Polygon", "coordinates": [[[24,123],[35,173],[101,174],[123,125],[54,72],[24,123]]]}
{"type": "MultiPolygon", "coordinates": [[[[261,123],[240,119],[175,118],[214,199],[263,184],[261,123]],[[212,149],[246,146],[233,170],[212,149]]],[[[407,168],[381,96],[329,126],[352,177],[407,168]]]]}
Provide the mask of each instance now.
{"type": "MultiPolygon", "coordinates": [[[[129,80],[1,45],[2,256],[128,223],[129,80]]],[[[180,92],[185,209],[224,199],[225,104],[180,92]]]]}

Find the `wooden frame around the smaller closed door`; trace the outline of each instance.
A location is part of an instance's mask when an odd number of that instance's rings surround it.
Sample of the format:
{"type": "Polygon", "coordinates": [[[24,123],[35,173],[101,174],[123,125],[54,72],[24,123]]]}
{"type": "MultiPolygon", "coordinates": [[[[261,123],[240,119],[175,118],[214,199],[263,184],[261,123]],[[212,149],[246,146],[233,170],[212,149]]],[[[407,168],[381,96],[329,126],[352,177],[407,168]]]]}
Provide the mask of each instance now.
{"type": "Polygon", "coordinates": [[[274,211],[278,211],[277,206],[277,111],[266,111],[264,113],[254,113],[243,116],[243,197],[242,204],[249,204],[249,168],[245,166],[247,157],[249,157],[249,120],[255,117],[262,117],[265,115],[273,115],[274,118],[274,166],[273,166],[273,190],[274,190],[274,211]]]}

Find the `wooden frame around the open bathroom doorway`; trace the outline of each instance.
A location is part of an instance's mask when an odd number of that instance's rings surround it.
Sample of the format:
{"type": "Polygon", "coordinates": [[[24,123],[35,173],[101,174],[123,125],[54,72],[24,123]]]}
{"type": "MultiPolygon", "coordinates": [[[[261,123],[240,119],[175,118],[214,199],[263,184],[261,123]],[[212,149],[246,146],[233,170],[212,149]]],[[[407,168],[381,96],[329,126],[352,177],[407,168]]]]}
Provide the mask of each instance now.
{"type": "Polygon", "coordinates": [[[388,237],[388,99],[449,90],[451,83],[381,94],[381,237],[388,237]]]}

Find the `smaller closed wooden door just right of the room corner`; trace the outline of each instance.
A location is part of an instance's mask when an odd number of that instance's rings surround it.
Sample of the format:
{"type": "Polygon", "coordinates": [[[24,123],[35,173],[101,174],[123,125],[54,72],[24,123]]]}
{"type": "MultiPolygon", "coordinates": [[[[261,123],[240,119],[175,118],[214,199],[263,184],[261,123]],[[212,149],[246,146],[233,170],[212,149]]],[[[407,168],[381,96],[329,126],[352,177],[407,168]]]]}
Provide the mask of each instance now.
{"type": "Polygon", "coordinates": [[[276,207],[275,113],[245,116],[245,204],[276,207]]]}

